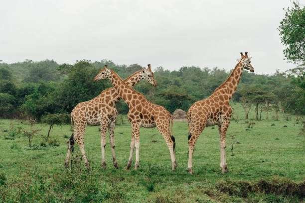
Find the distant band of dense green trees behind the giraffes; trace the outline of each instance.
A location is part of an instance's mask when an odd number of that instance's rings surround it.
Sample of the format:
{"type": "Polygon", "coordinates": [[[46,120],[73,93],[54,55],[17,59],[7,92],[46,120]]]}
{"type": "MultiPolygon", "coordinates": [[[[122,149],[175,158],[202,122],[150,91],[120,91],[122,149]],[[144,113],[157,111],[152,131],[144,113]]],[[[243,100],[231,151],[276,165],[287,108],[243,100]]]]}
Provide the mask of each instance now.
{"type": "MultiPolygon", "coordinates": [[[[0,117],[31,116],[40,120],[47,114],[70,113],[79,103],[93,99],[111,87],[109,81],[93,82],[100,68],[107,64],[122,78],[141,70],[138,64],[118,65],[112,61],[77,61],[75,64],[57,64],[53,60],[20,63],[0,63],[0,117]]],[[[229,72],[219,68],[181,67],[176,71],[157,67],[154,78],[157,87],[142,81],[135,89],[148,100],[163,105],[170,112],[177,108],[187,110],[198,100],[208,97],[228,77],[229,72]]],[[[294,74],[256,75],[244,71],[233,101],[241,102],[245,118],[250,108],[256,118],[262,111],[305,114],[304,87],[294,74]]],[[[117,104],[120,113],[127,113],[127,105],[117,104]]],[[[267,113],[268,116],[268,113],[267,113]]]]}

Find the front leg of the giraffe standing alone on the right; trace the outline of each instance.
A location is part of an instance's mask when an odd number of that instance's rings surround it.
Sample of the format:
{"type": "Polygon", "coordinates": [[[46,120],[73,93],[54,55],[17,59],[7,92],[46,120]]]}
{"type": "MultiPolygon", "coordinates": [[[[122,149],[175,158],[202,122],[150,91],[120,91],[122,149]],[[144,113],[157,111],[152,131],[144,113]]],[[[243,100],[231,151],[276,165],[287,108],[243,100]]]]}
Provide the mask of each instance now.
{"type": "Polygon", "coordinates": [[[220,136],[220,169],[222,173],[227,173],[227,161],[226,161],[226,133],[229,127],[230,121],[224,120],[223,123],[218,127],[220,136]]]}

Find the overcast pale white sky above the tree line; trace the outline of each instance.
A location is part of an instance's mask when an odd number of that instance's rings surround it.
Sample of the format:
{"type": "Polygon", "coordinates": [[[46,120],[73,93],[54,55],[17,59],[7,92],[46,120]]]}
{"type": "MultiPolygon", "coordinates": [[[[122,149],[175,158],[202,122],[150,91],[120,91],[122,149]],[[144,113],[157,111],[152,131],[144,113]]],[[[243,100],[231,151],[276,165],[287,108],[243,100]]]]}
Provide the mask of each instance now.
{"type": "MultiPolygon", "coordinates": [[[[304,4],[304,0],[300,1],[304,4]]],[[[283,60],[277,27],[289,0],[6,0],[0,6],[0,60],[109,59],[177,70],[234,68],[241,51],[256,73],[283,60]]]]}

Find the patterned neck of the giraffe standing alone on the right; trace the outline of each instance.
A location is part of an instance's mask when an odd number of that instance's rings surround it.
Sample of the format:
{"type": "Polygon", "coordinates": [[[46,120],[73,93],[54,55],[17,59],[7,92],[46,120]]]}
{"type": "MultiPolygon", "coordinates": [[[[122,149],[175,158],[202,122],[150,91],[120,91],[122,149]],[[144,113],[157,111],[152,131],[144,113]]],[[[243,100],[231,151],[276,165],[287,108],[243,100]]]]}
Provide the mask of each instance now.
{"type": "MultiPolygon", "coordinates": [[[[242,66],[242,63],[239,62],[238,64],[236,64],[234,70],[231,72],[228,79],[223,84],[221,84],[214,91],[214,93],[212,95],[214,95],[214,94],[227,95],[228,96],[227,100],[230,100],[237,89],[237,86],[241,79],[242,73],[243,73],[243,66],[242,66]]],[[[227,98],[227,97],[225,97],[225,98],[227,98]]]]}

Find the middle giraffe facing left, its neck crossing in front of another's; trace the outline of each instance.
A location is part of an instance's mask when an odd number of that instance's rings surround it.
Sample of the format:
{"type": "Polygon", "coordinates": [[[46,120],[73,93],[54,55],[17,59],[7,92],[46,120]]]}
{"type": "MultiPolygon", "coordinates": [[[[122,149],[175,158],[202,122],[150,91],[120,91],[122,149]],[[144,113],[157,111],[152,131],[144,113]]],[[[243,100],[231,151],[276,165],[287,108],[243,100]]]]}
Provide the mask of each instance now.
{"type": "MultiPolygon", "coordinates": [[[[149,68],[151,67],[150,64],[148,66],[149,68]]],[[[136,148],[135,169],[139,168],[140,127],[157,127],[169,149],[171,169],[175,170],[177,164],[175,157],[175,138],[172,136],[173,121],[171,114],[163,106],[149,102],[142,94],[126,85],[116,72],[107,67],[102,69],[94,80],[107,78],[129,106],[128,119],[132,125],[132,138],[127,170],[130,169],[132,164],[134,148],[136,148]]]]}

